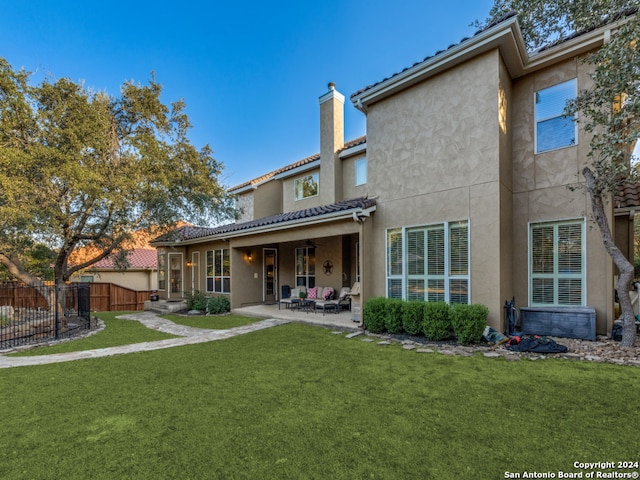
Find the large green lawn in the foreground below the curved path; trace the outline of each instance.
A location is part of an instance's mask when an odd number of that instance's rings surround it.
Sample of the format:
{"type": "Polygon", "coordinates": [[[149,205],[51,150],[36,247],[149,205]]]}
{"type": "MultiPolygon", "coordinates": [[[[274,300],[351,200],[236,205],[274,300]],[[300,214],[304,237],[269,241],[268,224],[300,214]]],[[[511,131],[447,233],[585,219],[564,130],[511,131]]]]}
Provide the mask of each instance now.
{"type": "Polygon", "coordinates": [[[12,480],[498,479],[640,461],[640,368],[418,354],[301,324],[2,370],[0,388],[12,480]]]}

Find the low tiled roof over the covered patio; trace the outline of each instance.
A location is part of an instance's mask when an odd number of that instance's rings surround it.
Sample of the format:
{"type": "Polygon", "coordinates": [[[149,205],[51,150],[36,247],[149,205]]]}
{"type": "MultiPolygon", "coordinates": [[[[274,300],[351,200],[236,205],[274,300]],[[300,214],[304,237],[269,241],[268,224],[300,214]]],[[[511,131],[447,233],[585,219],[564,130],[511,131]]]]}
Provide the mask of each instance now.
{"type": "Polygon", "coordinates": [[[368,209],[374,207],[376,201],[373,198],[354,198],[352,200],[344,200],[342,202],[333,203],[331,205],[322,205],[319,207],[306,208],[295,212],[279,213],[269,217],[259,218],[243,223],[230,223],[219,227],[193,227],[185,226],[178,228],[172,232],[161,235],[152,243],[180,243],[198,238],[209,237],[214,235],[225,235],[251,230],[260,227],[276,226],[293,222],[296,220],[311,219],[331,213],[347,212],[350,210],[368,209]]]}

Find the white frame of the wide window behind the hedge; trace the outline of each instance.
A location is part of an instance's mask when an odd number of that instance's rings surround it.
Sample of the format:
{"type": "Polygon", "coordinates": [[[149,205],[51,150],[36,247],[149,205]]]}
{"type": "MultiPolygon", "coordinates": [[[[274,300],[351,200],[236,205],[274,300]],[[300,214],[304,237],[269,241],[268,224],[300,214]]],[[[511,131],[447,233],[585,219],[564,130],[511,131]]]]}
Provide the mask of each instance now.
{"type": "MultiPolygon", "coordinates": [[[[453,282],[457,280],[462,280],[466,282],[467,285],[467,303],[471,303],[471,230],[470,230],[470,222],[469,220],[459,220],[452,222],[440,222],[429,225],[419,225],[413,227],[400,227],[400,228],[391,228],[386,230],[386,239],[385,239],[385,256],[386,256],[386,296],[388,298],[402,298],[403,300],[407,300],[408,287],[410,280],[421,280],[424,279],[425,283],[431,280],[442,280],[444,284],[444,297],[443,301],[450,303],[452,299],[451,285],[453,282]],[[464,223],[467,227],[467,273],[464,275],[454,275],[451,272],[451,227],[456,224],[464,223]],[[424,231],[425,233],[429,230],[443,230],[444,235],[444,273],[442,275],[429,275],[429,273],[425,270],[423,274],[419,274],[417,276],[413,276],[409,274],[409,263],[408,263],[408,233],[412,231],[424,231]],[[390,272],[390,259],[389,259],[389,239],[390,235],[400,235],[400,248],[401,251],[401,265],[400,271],[390,272]],[[397,289],[399,283],[401,285],[401,295],[396,292],[392,292],[390,289],[390,285],[394,284],[394,288],[397,289]]],[[[426,245],[426,244],[425,244],[426,245]]],[[[425,285],[425,293],[424,300],[428,301],[428,286],[425,285]]]]}

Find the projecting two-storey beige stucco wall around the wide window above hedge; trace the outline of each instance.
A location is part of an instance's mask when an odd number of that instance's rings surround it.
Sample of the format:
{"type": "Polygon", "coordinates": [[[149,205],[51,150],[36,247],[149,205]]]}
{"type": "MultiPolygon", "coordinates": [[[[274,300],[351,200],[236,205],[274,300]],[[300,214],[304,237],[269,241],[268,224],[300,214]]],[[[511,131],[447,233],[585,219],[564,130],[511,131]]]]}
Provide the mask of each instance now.
{"type": "Polygon", "coordinates": [[[508,194],[500,172],[501,76],[494,51],[370,106],[369,193],[379,198],[368,294],[386,293],[386,229],[469,220],[471,301],[489,306],[499,324],[501,271],[508,269],[500,234],[508,194]]]}

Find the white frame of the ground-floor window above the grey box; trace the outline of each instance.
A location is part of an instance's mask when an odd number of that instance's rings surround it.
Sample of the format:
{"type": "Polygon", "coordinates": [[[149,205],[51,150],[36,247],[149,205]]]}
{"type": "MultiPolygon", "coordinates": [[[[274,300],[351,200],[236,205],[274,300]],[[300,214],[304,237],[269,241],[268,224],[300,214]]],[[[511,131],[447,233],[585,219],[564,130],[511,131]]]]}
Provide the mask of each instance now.
{"type": "Polygon", "coordinates": [[[528,272],[528,281],[529,281],[529,305],[532,307],[554,307],[554,306],[585,306],[587,300],[587,246],[586,246],[586,220],[584,218],[574,218],[574,219],[565,219],[551,222],[530,222],[529,223],[529,246],[527,250],[528,254],[528,263],[529,263],[529,272],[528,272]],[[580,235],[581,235],[581,265],[580,265],[580,273],[562,273],[560,272],[560,266],[558,261],[558,228],[561,226],[567,225],[580,225],[580,235]],[[533,231],[536,227],[553,227],[553,243],[554,243],[554,251],[553,251],[553,271],[552,272],[544,272],[544,273],[534,273],[533,271],[533,231]],[[549,279],[553,281],[553,302],[536,302],[534,301],[534,279],[549,279]],[[580,292],[580,303],[567,303],[560,301],[560,292],[559,292],[559,282],[562,280],[580,280],[581,282],[581,292],[580,292]]]}

